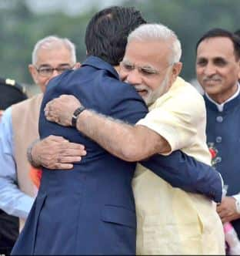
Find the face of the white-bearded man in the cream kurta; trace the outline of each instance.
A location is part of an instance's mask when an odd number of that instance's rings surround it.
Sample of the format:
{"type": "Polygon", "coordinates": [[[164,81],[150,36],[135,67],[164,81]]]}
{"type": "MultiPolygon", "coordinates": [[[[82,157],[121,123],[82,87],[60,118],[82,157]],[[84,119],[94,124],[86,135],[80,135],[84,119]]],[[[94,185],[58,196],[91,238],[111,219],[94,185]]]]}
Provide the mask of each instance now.
{"type": "Polygon", "coordinates": [[[176,66],[169,64],[170,54],[167,42],[129,42],[120,64],[120,79],[135,86],[145,103],[150,105],[168,91],[178,75],[176,66]]]}

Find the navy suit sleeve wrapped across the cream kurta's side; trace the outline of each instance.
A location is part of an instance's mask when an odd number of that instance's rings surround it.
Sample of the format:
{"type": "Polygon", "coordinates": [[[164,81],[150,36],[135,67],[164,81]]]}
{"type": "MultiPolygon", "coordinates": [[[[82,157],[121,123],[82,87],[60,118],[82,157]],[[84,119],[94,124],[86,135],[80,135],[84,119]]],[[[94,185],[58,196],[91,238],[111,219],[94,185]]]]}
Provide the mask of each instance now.
{"type": "Polygon", "coordinates": [[[181,150],[168,156],[155,155],[141,164],[167,181],[172,187],[204,194],[219,203],[222,200],[222,177],[218,171],[198,162],[181,150]]]}

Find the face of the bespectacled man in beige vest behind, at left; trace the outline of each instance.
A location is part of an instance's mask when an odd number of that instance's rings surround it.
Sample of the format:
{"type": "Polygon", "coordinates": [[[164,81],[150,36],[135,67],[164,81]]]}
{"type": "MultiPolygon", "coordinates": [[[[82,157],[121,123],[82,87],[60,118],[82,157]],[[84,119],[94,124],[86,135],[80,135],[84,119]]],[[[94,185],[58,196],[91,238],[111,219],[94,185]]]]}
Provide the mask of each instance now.
{"type": "Polygon", "coordinates": [[[48,84],[49,80],[55,76],[58,76],[61,72],[66,69],[72,69],[74,66],[78,66],[79,63],[75,65],[72,62],[71,52],[62,47],[53,47],[52,49],[42,49],[38,50],[38,59],[35,65],[29,65],[29,71],[32,74],[32,78],[35,83],[40,86],[42,92],[45,92],[45,86],[48,84]],[[58,69],[53,70],[52,69],[58,69]]]}

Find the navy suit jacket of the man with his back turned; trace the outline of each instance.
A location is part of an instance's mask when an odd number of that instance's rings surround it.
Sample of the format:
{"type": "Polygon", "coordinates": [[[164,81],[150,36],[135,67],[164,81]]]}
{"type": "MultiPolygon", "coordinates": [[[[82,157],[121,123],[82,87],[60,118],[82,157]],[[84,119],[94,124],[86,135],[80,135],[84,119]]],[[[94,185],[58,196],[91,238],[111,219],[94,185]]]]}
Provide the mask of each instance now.
{"type": "MultiPolygon", "coordinates": [[[[50,82],[40,113],[41,138],[64,136],[84,144],[88,154],[73,170],[43,168],[38,197],[12,254],[135,254],[131,186],[135,163],[112,156],[75,128],[48,122],[45,104],[62,94],[72,94],[85,107],[128,123],[136,123],[148,112],[133,86],[120,82],[115,69],[96,57],[50,82]]],[[[209,167],[181,151],[142,163],[174,186],[199,189],[213,197],[222,193],[218,173],[209,172],[209,167]],[[194,170],[197,164],[198,171],[194,170]]]]}

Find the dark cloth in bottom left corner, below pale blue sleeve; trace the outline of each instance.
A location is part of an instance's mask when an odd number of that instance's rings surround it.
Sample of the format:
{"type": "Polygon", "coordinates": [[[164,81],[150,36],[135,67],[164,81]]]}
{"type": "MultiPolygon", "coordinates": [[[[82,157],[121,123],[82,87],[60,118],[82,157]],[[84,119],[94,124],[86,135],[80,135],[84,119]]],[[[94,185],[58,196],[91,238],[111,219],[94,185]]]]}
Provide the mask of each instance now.
{"type": "Polygon", "coordinates": [[[0,210],[0,254],[10,254],[18,237],[18,227],[18,217],[0,210]]]}

